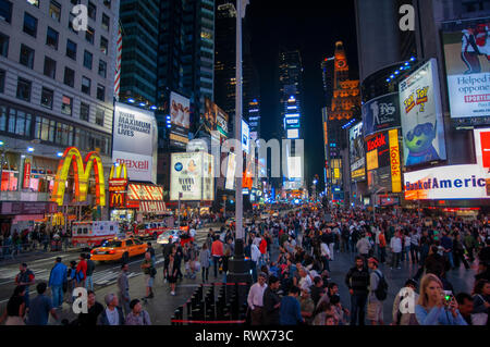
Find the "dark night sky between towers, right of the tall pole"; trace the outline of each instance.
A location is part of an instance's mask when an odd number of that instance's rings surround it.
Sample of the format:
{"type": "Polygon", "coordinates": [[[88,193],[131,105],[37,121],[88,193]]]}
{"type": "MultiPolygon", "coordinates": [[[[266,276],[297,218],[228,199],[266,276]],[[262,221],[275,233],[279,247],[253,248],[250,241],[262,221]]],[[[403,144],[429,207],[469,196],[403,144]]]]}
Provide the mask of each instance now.
{"type": "Polygon", "coordinates": [[[252,0],[252,52],[260,74],[261,137],[279,138],[279,50],[299,49],[303,61],[303,114],[305,175],[308,187],[318,174],[323,189],[323,134],[321,108],[326,106],[320,64],[332,57],[334,44],[344,42],[351,78],[358,79],[357,41],[353,0],[252,0]]]}

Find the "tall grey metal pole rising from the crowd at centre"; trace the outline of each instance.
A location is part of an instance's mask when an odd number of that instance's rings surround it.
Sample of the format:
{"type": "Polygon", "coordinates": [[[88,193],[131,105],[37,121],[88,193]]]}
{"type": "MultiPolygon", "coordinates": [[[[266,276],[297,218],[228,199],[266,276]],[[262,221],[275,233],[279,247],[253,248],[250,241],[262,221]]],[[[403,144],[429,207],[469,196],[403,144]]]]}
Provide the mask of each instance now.
{"type": "MultiPolygon", "coordinates": [[[[238,140],[238,148],[235,148],[235,152],[243,153],[242,151],[242,5],[243,0],[236,0],[236,86],[235,86],[235,139],[238,140]]],[[[242,156],[237,156],[240,158],[242,156]]],[[[242,165],[237,165],[242,168],[242,165]]],[[[236,222],[236,239],[244,239],[243,233],[243,171],[236,175],[235,181],[235,222],[236,222]]]]}

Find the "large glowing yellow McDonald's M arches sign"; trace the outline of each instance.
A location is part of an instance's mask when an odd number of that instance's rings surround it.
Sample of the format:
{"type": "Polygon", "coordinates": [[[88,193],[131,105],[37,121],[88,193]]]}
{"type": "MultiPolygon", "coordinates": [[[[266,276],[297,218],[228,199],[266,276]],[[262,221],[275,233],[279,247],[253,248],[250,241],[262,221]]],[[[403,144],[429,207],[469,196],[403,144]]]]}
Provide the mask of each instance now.
{"type": "Polygon", "coordinates": [[[75,147],[69,147],[64,150],[63,157],[58,165],[54,187],[51,195],[51,201],[58,206],[63,206],[64,190],[70,168],[73,163],[75,176],[75,199],[76,201],[86,201],[88,191],[88,177],[94,169],[96,178],[96,202],[98,206],[106,206],[106,184],[103,181],[102,160],[97,152],[89,152],[85,160],[75,147]]]}

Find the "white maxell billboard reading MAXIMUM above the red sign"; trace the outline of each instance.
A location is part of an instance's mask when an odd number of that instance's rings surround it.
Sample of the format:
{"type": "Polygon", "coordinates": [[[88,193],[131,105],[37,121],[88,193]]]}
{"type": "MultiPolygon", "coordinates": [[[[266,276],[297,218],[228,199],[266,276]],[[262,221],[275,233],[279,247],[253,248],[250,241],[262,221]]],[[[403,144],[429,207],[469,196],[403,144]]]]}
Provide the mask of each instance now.
{"type": "Polygon", "coordinates": [[[157,140],[152,112],[115,103],[112,161],[126,164],[128,179],[157,182],[157,140]]]}

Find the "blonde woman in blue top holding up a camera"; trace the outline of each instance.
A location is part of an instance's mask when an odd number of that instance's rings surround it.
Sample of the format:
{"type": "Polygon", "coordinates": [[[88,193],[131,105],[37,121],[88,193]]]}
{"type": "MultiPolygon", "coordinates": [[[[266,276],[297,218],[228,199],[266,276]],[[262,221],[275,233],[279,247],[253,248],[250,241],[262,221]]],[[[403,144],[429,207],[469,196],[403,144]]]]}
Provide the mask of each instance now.
{"type": "Polygon", "coordinates": [[[451,296],[446,300],[441,280],[433,274],[427,274],[421,280],[415,315],[420,325],[468,325],[457,309],[455,298],[451,296]]]}

